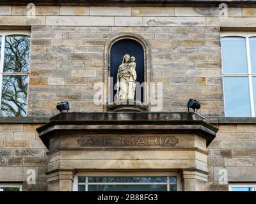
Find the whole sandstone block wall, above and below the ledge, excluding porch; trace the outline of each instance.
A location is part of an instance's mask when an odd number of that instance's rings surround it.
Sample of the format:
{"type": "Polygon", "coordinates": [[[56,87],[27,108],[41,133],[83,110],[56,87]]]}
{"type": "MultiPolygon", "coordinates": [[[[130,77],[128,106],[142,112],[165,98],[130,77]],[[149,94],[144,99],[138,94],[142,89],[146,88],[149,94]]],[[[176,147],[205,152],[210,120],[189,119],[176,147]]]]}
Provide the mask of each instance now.
{"type": "MultiPolygon", "coordinates": [[[[69,101],[72,111],[102,112],[93,97],[104,82],[104,45],[120,33],[140,35],[150,45],[151,82],[163,82],[163,111],[186,111],[189,98],[202,103],[204,116],[224,116],[220,30],[256,26],[256,8],[0,6],[0,29],[31,29],[29,116],[51,116],[56,103],[69,101]]],[[[0,125],[0,182],[24,182],[26,170],[37,172],[36,186],[45,190],[47,159],[36,135],[39,124],[0,125]]],[[[218,184],[220,168],[232,182],[255,179],[255,126],[220,125],[209,146],[209,190],[218,184]]]]}

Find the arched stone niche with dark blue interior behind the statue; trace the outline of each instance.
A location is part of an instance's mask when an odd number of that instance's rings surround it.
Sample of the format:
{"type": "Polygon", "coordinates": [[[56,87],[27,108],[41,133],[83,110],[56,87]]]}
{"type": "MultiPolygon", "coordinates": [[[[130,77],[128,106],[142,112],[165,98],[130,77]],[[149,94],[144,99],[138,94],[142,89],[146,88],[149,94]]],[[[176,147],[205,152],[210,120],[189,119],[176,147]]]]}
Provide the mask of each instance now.
{"type": "MultiPolygon", "coordinates": [[[[104,96],[106,98],[105,111],[143,111],[147,110],[149,104],[148,82],[150,82],[150,47],[141,36],[131,33],[120,33],[108,40],[104,50],[104,96]],[[125,54],[136,57],[137,82],[141,87],[139,98],[140,105],[137,103],[128,105],[115,105],[116,94],[116,75],[118,67],[122,64],[125,54]],[[145,83],[144,83],[145,82],[145,83]]],[[[137,95],[138,96],[138,95],[137,95]]]]}

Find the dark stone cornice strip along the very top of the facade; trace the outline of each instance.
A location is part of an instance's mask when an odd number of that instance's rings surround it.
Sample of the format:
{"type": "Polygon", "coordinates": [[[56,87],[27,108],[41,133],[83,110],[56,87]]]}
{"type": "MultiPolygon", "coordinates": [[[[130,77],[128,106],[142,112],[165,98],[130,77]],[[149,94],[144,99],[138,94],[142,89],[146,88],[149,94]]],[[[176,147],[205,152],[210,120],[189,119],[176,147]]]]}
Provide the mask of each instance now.
{"type": "MultiPolygon", "coordinates": [[[[2,0],[0,5],[27,5],[29,0],[2,0]]],[[[34,0],[38,6],[218,6],[256,7],[255,0],[34,0]]]]}

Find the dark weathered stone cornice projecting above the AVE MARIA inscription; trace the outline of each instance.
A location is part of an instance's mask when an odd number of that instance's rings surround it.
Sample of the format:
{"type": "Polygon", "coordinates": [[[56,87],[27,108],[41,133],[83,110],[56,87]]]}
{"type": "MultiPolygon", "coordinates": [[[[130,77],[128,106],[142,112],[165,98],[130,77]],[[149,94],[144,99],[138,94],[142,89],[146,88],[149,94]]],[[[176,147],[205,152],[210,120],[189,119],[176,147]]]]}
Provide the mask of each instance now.
{"type": "Polygon", "coordinates": [[[36,131],[47,148],[52,135],[67,131],[120,134],[124,131],[157,134],[193,133],[205,138],[208,146],[215,138],[218,128],[205,122],[205,118],[195,112],[62,112],[36,131]]]}

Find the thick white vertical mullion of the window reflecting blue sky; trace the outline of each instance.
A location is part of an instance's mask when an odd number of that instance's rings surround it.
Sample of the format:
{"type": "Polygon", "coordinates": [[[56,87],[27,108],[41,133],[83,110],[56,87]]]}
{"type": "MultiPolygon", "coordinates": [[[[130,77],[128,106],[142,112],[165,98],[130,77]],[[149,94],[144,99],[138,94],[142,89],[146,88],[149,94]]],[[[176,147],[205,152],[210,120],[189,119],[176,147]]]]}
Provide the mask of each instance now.
{"type": "Polygon", "coordinates": [[[250,92],[251,115],[252,117],[255,117],[253,84],[252,84],[252,64],[251,64],[251,55],[250,55],[250,42],[249,42],[248,36],[246,36],[246,55],[247,55],[248,74],[249,74],[248,81],[249,81],[249,92],[250,92]]]}

